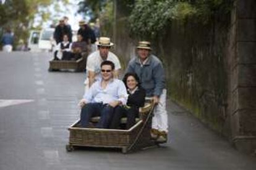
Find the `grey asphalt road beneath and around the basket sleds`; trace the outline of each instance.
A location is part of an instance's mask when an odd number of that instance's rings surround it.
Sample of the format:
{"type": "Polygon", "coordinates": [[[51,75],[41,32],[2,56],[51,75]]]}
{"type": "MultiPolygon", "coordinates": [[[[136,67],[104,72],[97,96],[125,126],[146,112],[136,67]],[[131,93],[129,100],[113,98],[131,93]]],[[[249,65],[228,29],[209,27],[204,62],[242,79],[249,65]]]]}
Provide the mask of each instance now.
{"type": "Polygon", "coordinates": [[[48,53],[0,53],[0,169],[256,169],[218,134],[168,100],[169,142],[122,154],[66,152],[67,127],[79,118],[84,73],[48,72],[48,53]]]}

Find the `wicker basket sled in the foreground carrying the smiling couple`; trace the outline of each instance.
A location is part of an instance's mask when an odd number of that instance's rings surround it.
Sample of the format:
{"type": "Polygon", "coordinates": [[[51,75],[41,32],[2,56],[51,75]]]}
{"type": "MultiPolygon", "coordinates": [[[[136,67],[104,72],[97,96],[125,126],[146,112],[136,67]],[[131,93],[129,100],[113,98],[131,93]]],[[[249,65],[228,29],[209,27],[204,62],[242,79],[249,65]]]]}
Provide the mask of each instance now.
{"type": "MultiPolygon", "coordinates": [[[[77,120],[68,128],[69,144],[66,145],[66,150],[73,151],[74,147],[108,147],[121,148],[122,153],[126,153],[129,150],[155,145],[150,137],[152,110],[153,104],[145,104],[145,107],[140,108],[137,123],[127,130],[83,128],[77,120]]],[[[97,122],[98,119],[94,117],[92,121],[97,122]]]]}

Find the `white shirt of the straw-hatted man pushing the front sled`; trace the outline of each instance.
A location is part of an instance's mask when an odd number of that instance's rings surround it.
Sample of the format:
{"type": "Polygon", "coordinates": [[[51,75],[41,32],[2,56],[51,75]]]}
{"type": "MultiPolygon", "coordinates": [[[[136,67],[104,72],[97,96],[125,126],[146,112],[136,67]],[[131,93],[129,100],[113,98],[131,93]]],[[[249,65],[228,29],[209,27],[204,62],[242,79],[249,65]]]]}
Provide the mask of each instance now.
{"type": "MultiPolygon", "coordinates": [[[[110,52],[110,51],[108,52],[108,57],[106,60],[114,63],[114,70],[121,69],[121,64],[119,62],[119,59],[115,54],[113,54],[113,52],[110,52]]],[[[93,52],[87,58],[86,70],[87,70],[87,72],[88,71],[95,72],[95,81],[99,80],[101,78],[100,65],[102,62],[103,62],[103,59],[100,57],[100,51],[93,52]]]]}

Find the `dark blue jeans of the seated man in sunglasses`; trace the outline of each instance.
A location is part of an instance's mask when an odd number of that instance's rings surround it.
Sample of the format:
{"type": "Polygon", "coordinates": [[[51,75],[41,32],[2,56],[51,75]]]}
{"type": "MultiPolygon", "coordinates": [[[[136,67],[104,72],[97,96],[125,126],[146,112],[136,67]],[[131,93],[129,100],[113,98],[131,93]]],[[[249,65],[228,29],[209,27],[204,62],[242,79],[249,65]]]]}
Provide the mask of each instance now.
{"type": "Polygon", "coordinates": [[[97,128],[108,128],[113,116],[114,108],[103,103],[87,103],[83,106],[80,115],[82,127],[88,127],[93,116],[100,116],[100,121],[96,124],[97,128]]]}

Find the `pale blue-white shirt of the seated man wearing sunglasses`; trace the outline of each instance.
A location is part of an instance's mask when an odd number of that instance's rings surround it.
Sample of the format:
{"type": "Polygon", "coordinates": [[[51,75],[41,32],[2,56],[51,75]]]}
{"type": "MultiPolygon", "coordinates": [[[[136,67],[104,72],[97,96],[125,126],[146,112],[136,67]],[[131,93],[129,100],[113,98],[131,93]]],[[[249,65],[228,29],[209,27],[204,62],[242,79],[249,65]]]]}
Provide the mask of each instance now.
{"type": "Polygon", "coordinates": [[[119,79],[109,81],[105,89],[101,87],[101,79],[92,84],[88,92],[85,92],[83,99],[88,103],[110,103],[120,101],[126,105],[128,94],[126,86],[119,79]]]}

